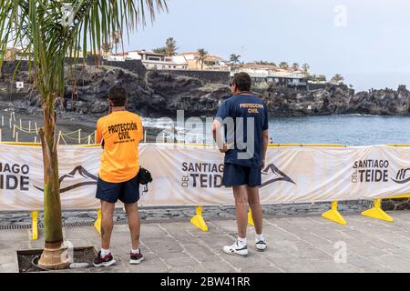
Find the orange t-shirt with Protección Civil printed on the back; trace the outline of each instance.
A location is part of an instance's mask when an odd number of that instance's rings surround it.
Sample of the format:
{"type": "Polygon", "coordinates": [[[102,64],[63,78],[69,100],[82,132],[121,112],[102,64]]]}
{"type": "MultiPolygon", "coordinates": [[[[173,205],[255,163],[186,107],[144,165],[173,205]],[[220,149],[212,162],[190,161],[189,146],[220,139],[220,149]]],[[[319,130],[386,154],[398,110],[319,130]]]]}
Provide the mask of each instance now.
{"type": "Polygon", "coordinates": [[[97,121],[96,143],[104,143],[98,176],[109,183],[122,183],[137,176],[141,119],[128,111],[116,111],[97,121]]]}

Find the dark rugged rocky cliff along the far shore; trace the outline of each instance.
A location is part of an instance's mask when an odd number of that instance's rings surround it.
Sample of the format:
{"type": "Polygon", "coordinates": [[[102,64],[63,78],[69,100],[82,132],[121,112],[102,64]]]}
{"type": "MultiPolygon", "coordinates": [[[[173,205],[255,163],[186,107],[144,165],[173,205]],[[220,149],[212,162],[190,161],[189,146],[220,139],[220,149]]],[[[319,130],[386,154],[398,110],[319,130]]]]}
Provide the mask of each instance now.
{"type": "MultiPolygon", "coordinates": [[[[210,84],[199,78],[159,71],[137,75],[118,67],[100,66],[77,68],[75,75],[76,84],[67,79],[66,94],[57,103],[60,113],[75,117],[107,113],[108,88],[115,83],[128,90],[128,108],[146,117],[173,117],[177,110],[185,110],[187,116],[215,115],[220,102],[231,95],[226,84],[210,84]],[[75,87],[77,95],[73,94],[75,87]]],[[[28,75],[20,74],[18,81],[29,84],[28,75]]],[[[7,78],[0,83],[3,103],[11,101],[27,114],[40,113],[40,98],[31,92],[29,85],[10,92],[9,84],[7,78]]],[[[326,85],[316,90],[271,85],[255,88],[254,92],[263,99],[272,116],[410,115],[410,91],[404,85],[397,90],[386,88],[358,93],[347,85],[326,85]]]]}

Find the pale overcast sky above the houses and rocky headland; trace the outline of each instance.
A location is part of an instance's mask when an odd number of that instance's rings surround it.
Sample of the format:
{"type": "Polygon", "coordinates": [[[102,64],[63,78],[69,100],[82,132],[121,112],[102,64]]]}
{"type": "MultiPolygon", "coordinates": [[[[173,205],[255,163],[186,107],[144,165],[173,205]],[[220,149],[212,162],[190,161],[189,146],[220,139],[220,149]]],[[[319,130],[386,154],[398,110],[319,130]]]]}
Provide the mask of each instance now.
{"type": "Polygon", "coordinates": [[[410,1],[402,0],[168,0],[131,36],[126,50],[162,46],[205,48],[241,60],[311,65],[336,73],[356,89],[410,87],[410,1]]]}

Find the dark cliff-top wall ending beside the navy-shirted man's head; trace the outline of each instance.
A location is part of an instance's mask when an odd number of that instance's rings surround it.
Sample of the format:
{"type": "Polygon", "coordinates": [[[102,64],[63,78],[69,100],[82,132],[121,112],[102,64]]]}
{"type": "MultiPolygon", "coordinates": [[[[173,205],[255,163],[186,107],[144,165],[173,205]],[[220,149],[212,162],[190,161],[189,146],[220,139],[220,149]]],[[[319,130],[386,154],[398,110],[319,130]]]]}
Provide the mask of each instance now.
{"type": "Polygon", "coordinates": [[[158,70],[159,73],[184,75],[200,79],[205,84],[226,84],[231,81],[231,73],[227,71],[197,71],[197,70],[158,70]]]}

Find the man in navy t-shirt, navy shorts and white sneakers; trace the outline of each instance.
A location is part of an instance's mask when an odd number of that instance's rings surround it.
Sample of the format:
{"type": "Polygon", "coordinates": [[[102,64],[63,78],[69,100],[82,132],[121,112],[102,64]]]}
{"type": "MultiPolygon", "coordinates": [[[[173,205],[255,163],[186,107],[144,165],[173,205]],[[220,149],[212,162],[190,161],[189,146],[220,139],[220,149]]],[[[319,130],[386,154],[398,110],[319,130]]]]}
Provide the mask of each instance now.
{"type": "Polygon", "coordinates": [[[233,95],[220,105],[212,125],[213,137],[220,152],[225,153],[222,184],[233,187],[238,224],[237,242],[224,246],[223,251],[230,255],[248,256],[246,230],[249,206],[255,224],[256,249],[261,252],[266,249],[259,187],[268,148],[268,111],[260,98],[251,95],[250,75],[234,75],[231,92],[233,95]]]}

